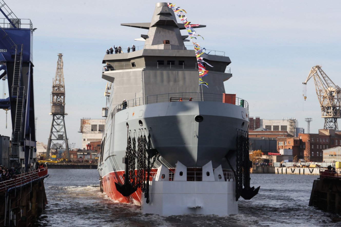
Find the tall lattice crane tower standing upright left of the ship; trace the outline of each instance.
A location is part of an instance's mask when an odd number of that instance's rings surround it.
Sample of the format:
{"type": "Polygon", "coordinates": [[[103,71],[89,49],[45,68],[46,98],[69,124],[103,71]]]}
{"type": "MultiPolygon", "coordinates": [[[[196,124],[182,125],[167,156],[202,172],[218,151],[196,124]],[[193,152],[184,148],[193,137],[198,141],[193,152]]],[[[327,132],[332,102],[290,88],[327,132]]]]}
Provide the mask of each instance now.
{"type": "Polygon", "coordinates": [[[63,74],[63,54],[58,54],[56,76],[53,80],[51,93],[51,113],[53,116],[50,137],[47,143],[46,159],[50,152],[57,154],[58,150],[66,150],[66,158],[70,159],[68,137],[65,128],[65,87],[63,74]],[[65,145],[65,148],[64,148],[65,145]]]}

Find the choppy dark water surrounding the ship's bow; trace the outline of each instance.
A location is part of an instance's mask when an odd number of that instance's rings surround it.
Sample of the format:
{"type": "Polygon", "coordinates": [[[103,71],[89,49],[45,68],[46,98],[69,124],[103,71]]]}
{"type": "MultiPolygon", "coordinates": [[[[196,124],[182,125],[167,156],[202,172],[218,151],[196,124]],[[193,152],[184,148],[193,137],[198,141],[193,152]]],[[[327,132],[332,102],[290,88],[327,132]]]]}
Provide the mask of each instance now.
{"type": "Polygon", "coordinates": [[[239,214],[143,215],[100,193],[94,169],[49,169],[45,189],[49,204],[34,226],[341,226],[336,215],[308,207],[317,176],[252,174],[261,189],[253,199],[239,200],[239,214]]]}

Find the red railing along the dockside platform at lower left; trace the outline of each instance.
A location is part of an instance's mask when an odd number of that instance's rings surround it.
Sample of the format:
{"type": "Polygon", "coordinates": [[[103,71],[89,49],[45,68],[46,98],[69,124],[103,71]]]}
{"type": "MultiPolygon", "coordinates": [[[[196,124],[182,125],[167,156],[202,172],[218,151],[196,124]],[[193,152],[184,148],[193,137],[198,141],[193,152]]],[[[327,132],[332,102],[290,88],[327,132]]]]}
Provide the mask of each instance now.
{"type": "Polygon", "coordinates": [[[32,172],[15,175],[15,178],[12,180],[6,180],[6,181],[0,182],[0,192],[15,189],[17,187],[26,185],[33,181],[45,178],[47,176],[48,176],[47,168],[37,169],[32,172]]]}

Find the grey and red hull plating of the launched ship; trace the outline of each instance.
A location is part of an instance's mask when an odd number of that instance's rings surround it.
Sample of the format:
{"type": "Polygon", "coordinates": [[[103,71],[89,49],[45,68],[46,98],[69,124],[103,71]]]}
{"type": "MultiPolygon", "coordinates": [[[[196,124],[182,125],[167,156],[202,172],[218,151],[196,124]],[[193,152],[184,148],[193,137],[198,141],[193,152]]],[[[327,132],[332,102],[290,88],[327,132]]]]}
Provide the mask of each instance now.
{"type": "MultiPolygon", "coordinates": [[[[209,101],[153,103],[108,116],[103,157],[99,163],[103,191],[114,201],[141,204],[140,189],[130,197],[124,197],[115,187],[115,182],[124,182],[122,158],[126,154],[129,134],[132,137],[151,134],[152,146],[162,157],[160,162],[155,162],[155,168],[166,163],[175,169],[178,161],[189,168],[201,168],[211,161],[213,169],[221,165],[229,170],[226,157],[235,168],[237,129],[247,130],[248,116],[248,110],[243,107],[209,101]],[[195,120],[198,115],[203,118],[201,122],[195,120]]],[[[228,183],[235,188],[234,182],[228,183]]],[[[234,189],[228,188],[229,194],[235,193],[234,189]]]]}

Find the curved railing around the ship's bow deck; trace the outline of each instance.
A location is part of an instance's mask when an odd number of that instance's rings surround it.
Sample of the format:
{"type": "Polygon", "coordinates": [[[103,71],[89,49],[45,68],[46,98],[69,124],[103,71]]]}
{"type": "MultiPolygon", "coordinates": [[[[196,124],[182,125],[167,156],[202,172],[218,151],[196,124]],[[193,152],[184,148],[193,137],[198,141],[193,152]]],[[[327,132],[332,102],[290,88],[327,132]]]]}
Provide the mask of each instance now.
{"type": "Polygon", "coordinates": [[[140,98],[135,98],[127,101],[127,106],[124,107],[123,103],[118,104],[110,113],[113,117],[117,112],[141,105],[160,103],[160,102],[172,102],[172,101],[207,101],[207,102],[223,102],[229,104],[235,104],[246,109],[249,109],[249,103],[241,98],[226,95],[226,94],[212,94],[212,93],[168,93],[160,95],[150,95],[140,98]]]}

